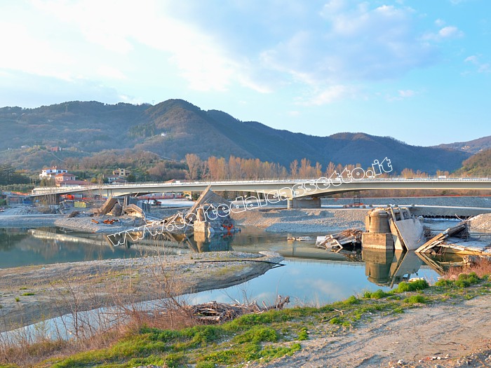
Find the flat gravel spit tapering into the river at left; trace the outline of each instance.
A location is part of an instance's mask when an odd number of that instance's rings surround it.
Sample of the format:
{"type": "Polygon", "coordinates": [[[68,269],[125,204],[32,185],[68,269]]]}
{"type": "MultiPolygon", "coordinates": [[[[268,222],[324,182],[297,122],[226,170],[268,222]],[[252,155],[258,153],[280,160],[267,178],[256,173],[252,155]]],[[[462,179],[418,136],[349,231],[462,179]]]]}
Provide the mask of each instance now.
{"type": "Polygon", "coordinates": [[[0,331],[75,307],[84,311],[238,285],[282,259],[269,252],[207,252],[0,269],[0,331]]]}

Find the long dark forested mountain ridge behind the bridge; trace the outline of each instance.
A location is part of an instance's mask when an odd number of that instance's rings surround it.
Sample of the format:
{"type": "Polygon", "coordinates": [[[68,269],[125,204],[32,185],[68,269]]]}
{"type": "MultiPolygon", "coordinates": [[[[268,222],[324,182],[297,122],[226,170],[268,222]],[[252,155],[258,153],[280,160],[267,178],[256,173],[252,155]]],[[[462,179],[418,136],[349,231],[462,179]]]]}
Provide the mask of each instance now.
{"type": "MultiPolygon", "coordinates": [[[[448,146],[411,146],[391,137],[342,132],[317,137],[239,121],[217,110],[203,111],[184,100],[150,104],[64,102],[36,109],[0,109],[0,151],[27,146],[61,146],[74,154],[105,149],[138,149],[181,160],[231,155],[259,158],[287,168],[307,158],[323,168],[330,161],[367,168],[385,157],[395,171],[457,170],[471,154],[448,146]]],[[[477,139],[476,139],[477,140],[477,139]]]]}

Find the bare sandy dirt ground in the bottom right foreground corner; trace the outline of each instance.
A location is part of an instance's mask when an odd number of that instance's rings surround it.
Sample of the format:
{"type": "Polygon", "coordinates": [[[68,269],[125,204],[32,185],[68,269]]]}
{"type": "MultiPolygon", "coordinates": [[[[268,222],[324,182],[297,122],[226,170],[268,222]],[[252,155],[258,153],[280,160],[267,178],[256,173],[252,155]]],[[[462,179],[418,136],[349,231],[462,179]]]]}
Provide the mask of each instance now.
{"type": "Polygon", "coordinates": [[[248,367],[491,367],[491,296],[375,315],[342,334],[328,323],[309,327],[302,350],[248,367]]]}

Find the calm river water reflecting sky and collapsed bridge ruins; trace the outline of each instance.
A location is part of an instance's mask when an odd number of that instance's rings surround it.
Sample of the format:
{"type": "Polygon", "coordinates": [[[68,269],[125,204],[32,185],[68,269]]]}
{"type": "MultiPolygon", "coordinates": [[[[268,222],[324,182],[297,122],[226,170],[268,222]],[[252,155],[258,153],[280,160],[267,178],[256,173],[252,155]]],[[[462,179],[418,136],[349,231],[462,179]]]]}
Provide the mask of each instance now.
{"type": "MultiPolygon", "coordinates": [[[[313,234],[315,238],[317,234],[313,234]]],[[[325,234],[318,234],[325,235],[325,234]]],[[[390,289],[401,280],[423,277],[429,281],[438,273],[414,252],[364,251],[336,254],[318,249],[311,242],[287,240],[287,234],[243,229],[234,236],[183,238],[164,236],[114,247],[101,234],[78,233],[58,228],[0,229],[0,268],[140,257],[155,250],[166,254],[187,254],[220,250],[278,252],[285,266],[227,289],[215,289],[188,296],[191,303],[230,302],[245,299],[272,303],[277,294],[289,295],[295,305],[318,305],[345,299],[365,290],[390,289]]]]}

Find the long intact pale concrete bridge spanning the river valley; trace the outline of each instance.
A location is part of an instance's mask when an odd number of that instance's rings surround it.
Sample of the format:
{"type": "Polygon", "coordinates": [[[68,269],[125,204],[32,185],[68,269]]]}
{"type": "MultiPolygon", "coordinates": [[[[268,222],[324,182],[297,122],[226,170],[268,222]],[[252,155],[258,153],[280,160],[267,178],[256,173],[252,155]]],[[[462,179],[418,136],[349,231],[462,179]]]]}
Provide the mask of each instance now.
{"type": "MultiPolygon", "coordinates": [[[[175,181],[164,183],[107,184],[93,186],[39,187],[34,188],[31,196],[50,196],[60,194],[87,193],[100,196],[140,196],[147,193],[203,191],[211,186],[213,191],[243,191],[269,195],[278,202],[280,199],[291,200],[314,198],[309,207],[320,207],[319,197],[335,193],[370,190],[455,190],[478,189],[491,191],[490,178],[373,178],[373,179],[280,179],[280,180],[245,180],[227,182],[189,182],[175,181]],[[318,205],[317,202],[318,201],[318,205]]],[[[293,205],[293,207],[296,207],[293,205]]]]}

